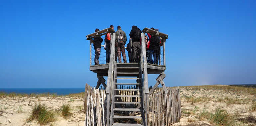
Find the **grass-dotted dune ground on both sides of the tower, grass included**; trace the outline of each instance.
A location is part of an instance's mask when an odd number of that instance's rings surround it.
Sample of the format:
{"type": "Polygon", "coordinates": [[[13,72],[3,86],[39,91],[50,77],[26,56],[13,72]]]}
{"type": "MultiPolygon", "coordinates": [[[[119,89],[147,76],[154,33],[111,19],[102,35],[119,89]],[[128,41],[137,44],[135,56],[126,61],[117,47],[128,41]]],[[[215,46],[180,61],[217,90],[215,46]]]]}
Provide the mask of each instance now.
{"type": "MultiPolygon", "coordinates": [[[[256,88],[180,87],[182,118],[174,126],[256,126],[256,88]]],[[[0,126],[83,126],[84,93],[0,93],[0,126]]]]}

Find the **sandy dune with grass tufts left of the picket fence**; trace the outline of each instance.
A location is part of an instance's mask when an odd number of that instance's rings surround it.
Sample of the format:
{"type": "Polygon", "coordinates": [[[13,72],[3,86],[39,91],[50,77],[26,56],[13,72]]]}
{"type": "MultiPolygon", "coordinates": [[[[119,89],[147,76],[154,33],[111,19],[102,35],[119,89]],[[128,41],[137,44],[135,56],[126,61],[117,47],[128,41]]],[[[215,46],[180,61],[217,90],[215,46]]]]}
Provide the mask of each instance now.
{"type": "Polygon", "coordinates": [[[0,93],[0,126],[83,126],[84,93],[0,93]]]}

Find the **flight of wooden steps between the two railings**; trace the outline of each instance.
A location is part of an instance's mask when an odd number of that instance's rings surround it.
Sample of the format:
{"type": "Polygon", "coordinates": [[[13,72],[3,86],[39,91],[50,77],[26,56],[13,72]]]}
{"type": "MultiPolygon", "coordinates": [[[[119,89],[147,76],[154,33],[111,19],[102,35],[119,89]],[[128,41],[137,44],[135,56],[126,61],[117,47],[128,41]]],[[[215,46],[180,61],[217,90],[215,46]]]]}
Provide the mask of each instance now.
{"type": "MultiPolygon", "coordinates": [[[[115,63],[114,67],[114,87],[112,88],[112,102],[110,124],[112,126],[144,126],[142,110],[142,70],[139,63],[115,63]],[[118,80],[135,80],[135,83],[117,83],[118,80]],[[134,85],[135,89],[118,89],[123,85],[134,85]],[[132,91],[133,94],[120,95],[120,91],[132,91]],[[140,95],[138,95],[140,94],[140,95]],[[122,98],[132,99],[132,101],[123,101],[122,98]],[[132,98],[131,98],[132,97],[132,98]],[[137,100],[136,100],[137,98],[137,100]],[[129,104],[129,105],[127,105],[129,104]],[[136,107],[137,108],[134,108],[136,107]],[[133,114],[131,114],[133,112],[133,114]],[[141,113],[135,116],[134,113],[141,113]],[[141,119],[141,123],[114,123],[116,119],[141,119]]],[[[122,81],[124,82],[124,81],[122,81]]]]}

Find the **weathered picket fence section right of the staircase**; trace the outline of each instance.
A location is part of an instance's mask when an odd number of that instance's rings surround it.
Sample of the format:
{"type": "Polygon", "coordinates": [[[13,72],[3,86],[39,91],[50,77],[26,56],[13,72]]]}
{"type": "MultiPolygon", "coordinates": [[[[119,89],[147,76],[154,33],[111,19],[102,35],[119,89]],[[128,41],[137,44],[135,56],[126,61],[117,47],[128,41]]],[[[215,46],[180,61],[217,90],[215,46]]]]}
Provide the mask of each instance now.
{"type": "MultiPolygon", "coordinates": [[[[150,90],[152,87],[149,88],[150,90]]],[[[149,96],[148,125],[171,126],[181,118],[181,99],[179,88],[168,88],[166,93],[163,88],[157,88],[149,96]]]]}

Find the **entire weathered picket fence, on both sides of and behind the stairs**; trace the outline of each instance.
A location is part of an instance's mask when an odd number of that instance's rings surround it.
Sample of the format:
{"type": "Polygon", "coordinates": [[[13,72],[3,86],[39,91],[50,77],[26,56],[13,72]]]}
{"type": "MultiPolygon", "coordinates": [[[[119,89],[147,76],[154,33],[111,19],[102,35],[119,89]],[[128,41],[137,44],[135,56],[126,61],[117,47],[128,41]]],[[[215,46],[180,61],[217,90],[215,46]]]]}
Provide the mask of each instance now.
{"type": "MultiPolygon", "coordinates": [[[[118,89],[135,89],[134,86],[118,87],[118,89]]],[[[149,87],[151,90],[152,87],[149,87]]],[[[148,100],[147,121],[149,126],[171,126],[181,118],[181,100],[179,88],[157,88],[148,100]]],[[[120,94],[132,95],[134,91],[120,91],[120,94]]],[[[95,89],[86,84],[85,87],[85,126],[106,126],[106,94],[105,89],[95,89]]],[[[132,101],[132,98],[122,97],[123,101],[132,101]]],[[[140,102],[140,98],[136,99],[140,102]]],[[[124,105],[126,108],[130,104],[124,105]]],[[[136,105],[134,107],[137,107],[136,105]]]]}

